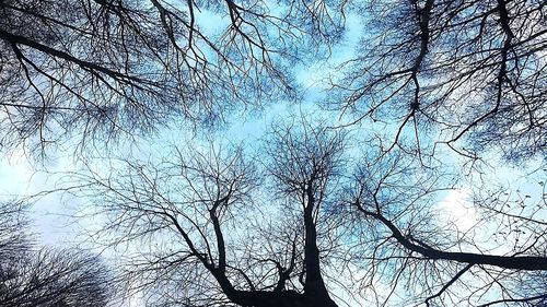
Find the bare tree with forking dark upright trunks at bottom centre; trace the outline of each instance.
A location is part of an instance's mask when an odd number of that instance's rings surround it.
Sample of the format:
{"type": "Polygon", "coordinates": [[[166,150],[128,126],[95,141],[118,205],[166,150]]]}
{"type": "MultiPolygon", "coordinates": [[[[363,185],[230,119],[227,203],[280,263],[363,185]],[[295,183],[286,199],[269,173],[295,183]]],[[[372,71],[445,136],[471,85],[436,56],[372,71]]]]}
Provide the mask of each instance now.
{"type": "Polygon", "coordinates": [[[265,170],[241,146],[211,145],[155,167],[125,161],[124,172],[92,173],[84,188],[109,217],[101,237],[146,246],[128,275],[149,286],[151,304],[335,306],[321,269],[334,245],[321,212],[342,149],[339,133],[278,127],[265,170]]]}

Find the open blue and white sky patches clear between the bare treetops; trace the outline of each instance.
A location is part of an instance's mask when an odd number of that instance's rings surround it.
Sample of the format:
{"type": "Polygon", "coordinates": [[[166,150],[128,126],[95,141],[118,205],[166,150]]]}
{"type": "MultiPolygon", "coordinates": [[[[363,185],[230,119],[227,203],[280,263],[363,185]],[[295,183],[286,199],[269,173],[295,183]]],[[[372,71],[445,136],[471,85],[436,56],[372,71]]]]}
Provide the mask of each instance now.
{"type": "MultiPolygon", "coordinates": [[[[201,28],[211,35],[217,34],[228,23],[225,16],[220,16],[208,10],[201,10],[197,17],[201,28]],[[219,22],[219,20],[222,22],[219,22]]],[[[356,46],[358,46],[360,35],[364,31],[361,19],[356,14],[347,16],[346,26],[345,38],[333,48],[328,61],[311,61],[293,68],[295,80],[303,88],[303,99],[301,102],[275,102],[258,113],[244,116],[233,114],[226,117],[228,127],[219,131],[199,131],[195,133],[186,129],[184,125],[173,126],[160,130],[155,137],[144,138],[131,144],[121,144],[119,153],[121,155],[131,153],[133,157],[147,161],[162,158],[172,144],[200,143],[206,139],[254,144],[259,141],[271,122],[290,116],[301,116],[302,114],[303,116],[327,118],[330,121],[328,125],[331,126],[346,122],[347,118],[339,121],[336,113],[322,110],[318,105],[318,103],[324,103],[327,98],[323,92],[327,88],[325,75],[338,76],[339,71],[336,67],[354,56],[356,46]]],[[[392,127],[383,123],[365,122],[360,129],[362,129],[363,133],[376,131],[393,134],[395,132],[392,127]]],[[[23,150],[15,150],[1,160],[0,199],[36,194],[44,190],[56,189],[59,187],[59,182],[67,184],[67,180],[70,179],[67,173],[78,170],[81,167],[81,163],[72,157],[73,146],[71,143],[72,141],[66,142],[63,144],[65,149],[51,153],[49,160],[43,165],[32,162],[32,157],[27,156],[23,150]]],[[[453,152],[444,154],[447,161],[453,161],[454,168],[462,167],[465,164],[465,161],[461,161],[461,157],[453,152]]],[[[512,186],[513,194],[515,197],[519,193],[529,196],[529,199],[526,200],[528,202],[540,202],[544,198],[545,190],[542,188],[544,185],[540,182],[545,181],[545,172],[539,169],[531,174],[540,163],[536,166],[535,162],[529,162],[528,167],[514,167],[510,165],[498,166],[501,162],[493,154],[488,160],[493,161],[493,167],[486,167],[484,175],[462,181],[455,189],[443,192],[439,197],[437,202],[439,223],[444,223],[446,228],[453,229],[455,234],[470,229],[479,221],[479,212],[473,208],[473,193],[474,191],[480,192],[480,189],[477,189],[479,179],[498,182],[500,186],[512,186]]],[[[109,167],[107,164],[101,165],[101,161],[94,161],[93,163],[98,164],[98,168],[107,169],[109,167]]],[[[56,246],[78,244],[79,238],[77,236],[78,232],[82,229],[81,227],[93,227],[101,222],[85,220],[81,221],[80,224],[71,223],[72,220],[68,215],[75,214],[85,202],[85,200],[62,193],[53,193],[38,198],[32,209],[32,216],[34,220],[33,229],[39,234],[40,241],[56,246]]],[[[537,214],[546,217],[547,212],[544,210],[537,214]]],[[[489,229],[488,226],[481,229],[486,231],[485,234],[494,231],[489,229]]],[[[477,238],[481,239],[480,236],[477,236],[477,238]]],[[[514,239],[514,236],[507,236],[508,241],[514,239]]],[[[487,239],[482,244],[485,244],[485,248],[491,247],[487,239]]],[[[500,253],[507,252],[507,250],[502,249],[496,251],[500,253]]],[[[379,287],[382,288],[383,286],[379,285],[379,287]]],[[[135,306],[138,305],[140,303],[136,302],[135,306]]]]}

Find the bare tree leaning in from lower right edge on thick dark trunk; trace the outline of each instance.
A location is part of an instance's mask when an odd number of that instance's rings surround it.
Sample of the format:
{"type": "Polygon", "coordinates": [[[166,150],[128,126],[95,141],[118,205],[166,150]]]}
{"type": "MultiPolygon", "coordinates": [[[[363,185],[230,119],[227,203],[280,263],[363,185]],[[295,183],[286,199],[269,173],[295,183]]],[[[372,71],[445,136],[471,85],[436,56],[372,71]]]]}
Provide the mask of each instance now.
{"type": "Polygon", "coordinates": [[[450,225],[440,217],[434,196],[457,186],[446,181],[453,175],[439,172],[424,170],[400,151],[372,155],[357,167],[342,202],[357,210],[352,232],[361,241],[356,257],[363,261],[365,288],[382,305],[399,299],[427,306],[545,302],[545,194],[511,214],[509,205],[488,208],[498,202],[497,194],[480,187],[469,196],[473,213],[450,225]],[[389,284],[388,291],[379,293],[379,283],[389,284]],[[414,293],[399,298],[403,288],[414,293]],[[492,293],[502,299],[491,299],[492,293]]]}

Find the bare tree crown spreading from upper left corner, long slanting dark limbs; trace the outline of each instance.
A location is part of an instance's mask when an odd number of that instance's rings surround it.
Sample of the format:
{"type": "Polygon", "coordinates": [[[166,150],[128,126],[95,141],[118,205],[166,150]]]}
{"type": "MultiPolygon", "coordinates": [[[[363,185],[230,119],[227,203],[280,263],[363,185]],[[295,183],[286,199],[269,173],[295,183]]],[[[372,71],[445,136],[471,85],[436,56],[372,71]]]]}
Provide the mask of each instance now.
{"type": "Polygon", "coordinates": [[[281,59],[296,58],[288,50],[301,38],[334,40],[338,19],[322,1],[268,5],[1,1],[2,146],[44,146],[62,134],[104,143],[173,117],[213,125],[275,93],[294,94],[281,59]]]}

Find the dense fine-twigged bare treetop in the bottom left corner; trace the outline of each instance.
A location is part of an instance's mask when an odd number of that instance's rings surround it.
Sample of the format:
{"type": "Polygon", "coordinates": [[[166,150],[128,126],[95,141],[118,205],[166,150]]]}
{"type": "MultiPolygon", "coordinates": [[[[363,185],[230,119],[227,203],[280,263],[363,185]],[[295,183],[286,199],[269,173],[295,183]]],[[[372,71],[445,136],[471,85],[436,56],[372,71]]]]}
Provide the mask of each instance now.
{"type": "Polygon", "coordinates": [[[38,248],[26,235],[24,206],[0,208],[0,306],[89,306],[113,302],[112,272],[81,250],[38,248]]]}

